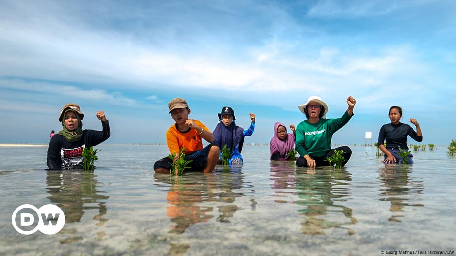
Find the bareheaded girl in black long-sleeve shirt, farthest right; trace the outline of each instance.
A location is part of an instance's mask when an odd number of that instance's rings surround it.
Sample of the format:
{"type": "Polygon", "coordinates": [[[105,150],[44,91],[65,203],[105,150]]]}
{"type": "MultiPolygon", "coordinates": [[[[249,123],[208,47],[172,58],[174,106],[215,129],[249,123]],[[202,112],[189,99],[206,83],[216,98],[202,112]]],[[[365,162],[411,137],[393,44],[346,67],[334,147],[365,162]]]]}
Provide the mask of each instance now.
{"type": "MultiPolygon", "coordinates": [[[[402,163],[402,157],[399,155],[400,150],[408,151],[407,147],[407,136],[412,139],[422,142],[423,135],[421,133],[420,124],[414,118],[410,118],[410,122],[416,127],[416,132],[410,125],[399,122],[402,118],[402,108],[399,106],[390,107],[388,112],[391,123],[384,124],[380,128],[378,135],[378,148],[385,153],[384,160],[385,164],[402,163]],[[386,147],[383,145],[386,140],[386,147]]],[[[413,155],[408,154],[408,161],[405,164],[413,164],[413,155]]]]}

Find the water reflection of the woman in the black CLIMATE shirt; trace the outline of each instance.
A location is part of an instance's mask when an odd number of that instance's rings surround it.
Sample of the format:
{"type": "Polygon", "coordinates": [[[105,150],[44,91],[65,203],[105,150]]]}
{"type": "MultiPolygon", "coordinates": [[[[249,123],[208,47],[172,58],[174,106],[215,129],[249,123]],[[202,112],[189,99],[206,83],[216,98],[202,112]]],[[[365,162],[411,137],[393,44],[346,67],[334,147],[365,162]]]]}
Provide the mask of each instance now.
{"type": "MultiPolygon", "coordinates": [[[[83,171],[47,171],[46,172],[46,192],[50,194],[47,198],[65,213],[65,224],[80,222],[84,212],[87,210],[98,210],[98,214],[93,217],[97,221],[96,226],[103,226],[108,219],[105,217],[107,212],[106,200],[109,196],[101,195],[102,188],[97,181],[97,175],[93,172],[83,171]]],[[[69,243],[82,240],[82,236],[74,236],[76,229],[65,228],[60,233],[69,233],[73,236],[61,243],[69,243]]],[[[103,236],[103,232],[98,233],[98,237],[103,236]]]]}

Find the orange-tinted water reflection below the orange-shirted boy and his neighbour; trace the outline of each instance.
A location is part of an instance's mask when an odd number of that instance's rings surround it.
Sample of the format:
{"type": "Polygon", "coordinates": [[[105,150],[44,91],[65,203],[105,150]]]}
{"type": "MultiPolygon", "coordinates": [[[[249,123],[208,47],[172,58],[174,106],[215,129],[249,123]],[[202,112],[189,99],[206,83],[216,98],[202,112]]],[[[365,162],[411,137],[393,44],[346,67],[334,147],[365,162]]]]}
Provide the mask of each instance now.
{"type": "MultiPolygon", "coordinates": [[[[236,198],[249,192],[239,169],[209,175],[189,173],[181,177],[155,173],[154,178],[156,182],[170,184],[166,195],[166,215],[174,223],[168,231],[170,235],[183,234],[189,226],[212,218],[218,222],[230,222],[239,209],[236,198]]],[[[190,244],[172,242],[168,254],[184,255],[188,248],[190,244]]]]}

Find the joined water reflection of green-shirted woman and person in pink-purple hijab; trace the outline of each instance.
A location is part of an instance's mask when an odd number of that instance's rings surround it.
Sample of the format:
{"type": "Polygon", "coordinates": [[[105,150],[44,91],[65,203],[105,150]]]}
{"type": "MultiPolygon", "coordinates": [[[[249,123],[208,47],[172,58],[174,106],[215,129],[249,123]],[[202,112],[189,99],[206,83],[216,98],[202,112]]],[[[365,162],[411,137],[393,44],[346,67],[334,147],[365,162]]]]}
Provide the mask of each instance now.
{"type": "Polygon", "coordinates": [[[351,174],[345,169],[330,167],[303,169],[287,163],[271,163],[271,180],[275,195],[286,197],[295,194],[298,199],[275,200],[277,203],[294,203],[305,208],[298,210],[306,218],[301,233],[324,235],[326,229],[344,228],[350,235],[354,231],[343,227],[355,224],[352,209],[343,205],[350,199],[351,174]]]}

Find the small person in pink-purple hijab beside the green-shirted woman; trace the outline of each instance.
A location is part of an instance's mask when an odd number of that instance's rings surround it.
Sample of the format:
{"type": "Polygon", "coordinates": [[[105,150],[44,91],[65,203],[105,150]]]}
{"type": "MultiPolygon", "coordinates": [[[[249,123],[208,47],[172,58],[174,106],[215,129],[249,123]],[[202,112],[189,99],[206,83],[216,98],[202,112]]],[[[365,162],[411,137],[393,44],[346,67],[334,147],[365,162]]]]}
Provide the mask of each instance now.
{"type": "MultiPolygon", "coordinates": [[[[287,154],[294,150],[294,142],[296,141],[296,128],[293,124],[290,124],[290,130],[293,133],[287,133],[287,128],[283,123],[276,122],[274,124],[274,137],[269,142],[271,160],[291,160],[287,154]]],[[[293,160],[295,160],[294,157],[293,160]]]]}

